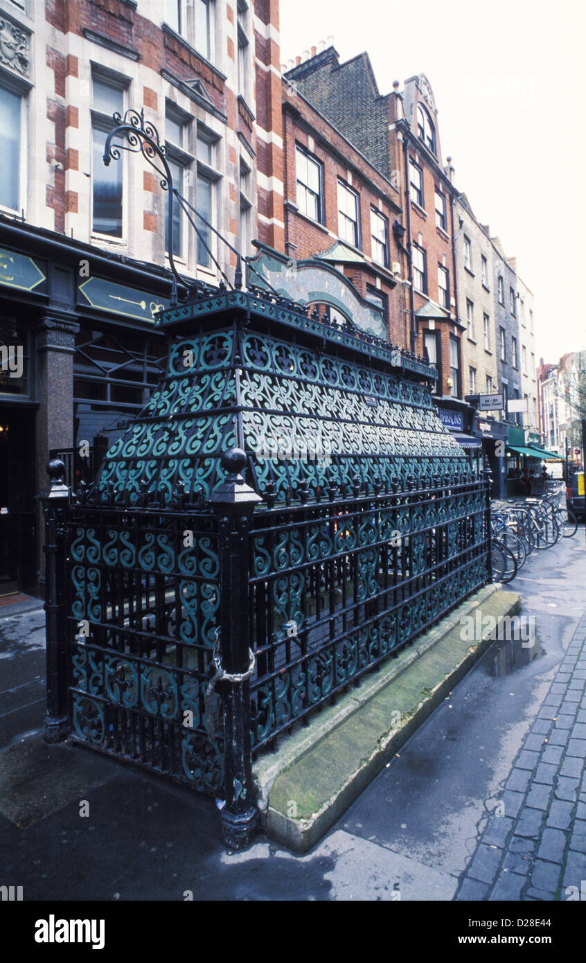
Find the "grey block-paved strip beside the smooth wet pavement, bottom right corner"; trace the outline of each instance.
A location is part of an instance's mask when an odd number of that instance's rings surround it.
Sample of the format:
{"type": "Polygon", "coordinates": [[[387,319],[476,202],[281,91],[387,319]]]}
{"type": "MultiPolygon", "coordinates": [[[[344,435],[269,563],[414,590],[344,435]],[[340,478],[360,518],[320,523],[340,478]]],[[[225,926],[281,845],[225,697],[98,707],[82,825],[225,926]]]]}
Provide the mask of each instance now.
{"type": "Polygon", "coordinates": [[[585,765],[586,613],[455,899],[579,898],[586,880],[585,765]],[[567,893],[568,887],[576,891],[567,893]]]}

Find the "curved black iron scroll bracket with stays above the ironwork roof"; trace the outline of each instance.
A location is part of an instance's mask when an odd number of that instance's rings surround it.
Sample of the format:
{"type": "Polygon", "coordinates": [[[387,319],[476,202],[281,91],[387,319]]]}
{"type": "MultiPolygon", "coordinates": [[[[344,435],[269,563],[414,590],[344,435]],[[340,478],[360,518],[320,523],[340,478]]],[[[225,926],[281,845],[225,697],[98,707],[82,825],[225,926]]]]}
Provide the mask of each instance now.
{"type": "MultiPolygon", "coordinates": [[[[220,273],[223,278],[223,280],[220,281],[219,283],[220,289],[225,290],[226,286],[230,288],[237,288],[237,289],[242,288],[242,255],[240,251],[238,251],[236,247],[233,247],[230,244],[230,242],[227,241],[226,238],[219,233],[217,228],[214,227],[214,225],[211,224],[210,221],[207,221],[204,218],[204,216],[196,208],[193,207],[193,205],[189,202],[189,200],[186,197],[184,197],[179,193],[177,188],[173,187],[173,177],[169,169],[169,166],[166,162],[166,147],[165,147],[165,144],[161,143],[159,132],[155,127],[155,125],[151,123],[149,120],[144,119],[144,111],[142,109],[140,109],[140,113],[139,113],[139,111],[136,111],[131,108],[130,110],[127,110],[125,112],[124,117],[122,117],[120,114],[114,114],[113,117],[115,119],[116,126],[108,134],[108,137],[106,138],[106,143],[104,145],[104,164],[106,165],[106,167],[110,165],[111,160],[118,161],[120,159],[120,156],[121,156],[120,151],[122,150],[126,150],[131,154],[141,154],[142,157],[146,161],[148,161],[150,166],[157,171],[159,177],[161,178],[161,187],[163,188],[163,190],[168,191],[169,194],[172,194],[177,198],[177,202],[179,203],[185,215],[187,216],[188,220],[190,221],[191,226],[193,227],[198,240],[201,242],[203,247],[205,247],[205,249],[207,250],[208,254],[210,255],[214,264],[217,267],[218,273],[220,273]],[[116,138],[118,139],[117,143],[115,143],[116,138]],[[237,263],[236,263],[234,285],[230,283],[230,281],[226,277],[226,274],[221,270],[217,262],[217,259],[214,257],[214,254],[212,253],[212,251],[210,250],[210,247],[208,247],[208,244],[206,243],[205,237],[203,236],[202,232],[198,229],[195,221],[193,221],[190,211],[195,215],[195,217],[199,221],[201,221],[203,224],[205,224],[206,227],[212,230],[220,239],[220,241],[222,241],[223,244],[226,245],[226,247],[228,247],[231,251],[233,251],[236,254],[237,263]]],[[[167,233],[167,237],[168,237],[167,256],[169,259],[169,265],[170,265],[171,271],[173,273],[173,282],[171,287],[170,300],[171,300],[171,307],[174,307],[178,303],[177,282],[179,282],[179,284],[181,284],[182,287],[187,288],[188,298],[190,297],[191,292],[197,289],[198,282],[194,281],[193,283],[190,284],[189,281],[187,281],[185,277],[183,277],[177,271],[177,268],[175,266],[175,259],[173,257],[173,204],[167,205],[166,218],[167,218],[167,232],[168,232],[167,233]]],[[[250,258],[245,257],[244,261],[246,262],[246,264],[250,266],[253,273],[257,274],[257,276],[261,278],[263,284],[267,285],[269,290],[272,291],[274,295],[277,295],[277,292],[271,287],[271,285],[268,284],[268,281],[265,278],[263,278],[262,275],[258,273],[258,271],[254,269],[254,266],[250,265],[250,258]]]]}

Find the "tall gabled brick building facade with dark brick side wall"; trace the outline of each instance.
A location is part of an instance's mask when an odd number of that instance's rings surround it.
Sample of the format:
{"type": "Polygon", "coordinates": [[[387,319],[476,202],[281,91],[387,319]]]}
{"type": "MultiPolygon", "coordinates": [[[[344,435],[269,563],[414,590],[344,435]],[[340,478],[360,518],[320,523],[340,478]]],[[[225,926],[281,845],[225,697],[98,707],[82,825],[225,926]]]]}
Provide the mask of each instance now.
{"type": "MultiPolygon", "coordinates": [[[[398,220],[405,229],[403,247],[395,250],[401,266],[401,283],[394,300],[397,340],[401,346],[422,354],[425,333],[434,332],[440,374],[438,392],[462,397],[460,335],[463,325],[458,318],[451,244],[451,205],[455,191],[442,166],[437,112],[428,81],[423,75],[411,77],[405,82],[402,95],[397,91],[381,95],[368,55],[361,54],[340,64],[333,47],[293,67],[288,71],[287,79],[360,150],[371,167],[394,186],[395,203],[402,208],[397,214],[398,220]],[[419,137],[417,111],[420,103],[434,125],[433,150],[428,149],[419,137]],[[414,200],[409,189],[412,161],[420,169],[420,203],[414,200]],[[436,190],[445,197],[445,230],[436,226],[436,190]],[[412,290],[407,251],[413,251],[414,245],[422,252],[426,270],[420,284],[417,283],[419,275],[413,275],[412,290]],[[438,266],[446,271],[443,275],[447,284],[445,305],[441,303],[438,266]],[[450,340],[457,345],[459,358],[458,383],[453,387],[449,383],[450,340]]],[[[364,252],[368,252],[366,247],[364,252]]]]}

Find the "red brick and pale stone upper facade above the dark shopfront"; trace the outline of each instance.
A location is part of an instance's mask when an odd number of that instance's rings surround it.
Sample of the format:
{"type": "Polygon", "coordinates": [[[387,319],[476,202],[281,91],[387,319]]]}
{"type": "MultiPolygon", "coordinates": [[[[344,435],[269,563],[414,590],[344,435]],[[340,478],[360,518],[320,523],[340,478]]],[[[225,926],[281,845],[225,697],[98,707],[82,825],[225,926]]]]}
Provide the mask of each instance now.
{"type": "MultiPolygon", "coordinates": [[[[204,56],[197,48],[191,4],[183,7],[181,35],[164,22],[159,0],[45,0],[30,6],[30,16],[11,5],[12,18],[21,17],[22,28],[31,35],[34,53],[26,99],[35,143],[28,151],[29,186],[20,205],[29,223],[83,242],[94,240],[91,91],[92,78],[100,75],[124,89],[124,109],[144,109],[164,141],[169,105],[191,121],[189,143],[183,147],[190,155],[185,160],[191,170],[188,199],[195,205],[195,126],[212,138],[213,221],[231,245],[239,247],[244,238],[242,253],[253,254],[251,242],[260,237],[283,247],[278,0],[249,0],[244,21],[241,15],[248,39],[242,91],[236,5],[215,0],[209,9],[204,56]],[[41,138],[42,156],[35,145],[41,138]],[[241,204],[242,169],[250,175],[249,207],[241,204]],[[247,219],[246,231],[241,231],[241,218],[247,219]]],[[[125,158],[123,237],[95,240],[116,253],[165,265],[166,197],[160,178],[153,181],[150,172],[140,158],[125,158]],[[146,231],[143,214],[149,215],[146,231]]],[[[191,232],[187,221],[185,229],[191,232]]],[[[188,247],[182,270],[217,281],[213,265],[197,265],[194,235],[188,247]]],[[[235,255],[219,242],[214,252],[220,269],[233,272],[235,255]]]]}

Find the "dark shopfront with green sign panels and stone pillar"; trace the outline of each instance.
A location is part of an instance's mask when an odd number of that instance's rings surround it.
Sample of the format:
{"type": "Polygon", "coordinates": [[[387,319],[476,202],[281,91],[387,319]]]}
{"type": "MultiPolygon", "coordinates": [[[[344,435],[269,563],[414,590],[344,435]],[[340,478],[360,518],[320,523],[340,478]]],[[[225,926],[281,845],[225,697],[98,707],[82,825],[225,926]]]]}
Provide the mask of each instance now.
{"type": "Polygon", "coordinates": [[[0,216],[0,595],[42,582],[50,453],[89,475],[94,439],[115,441],[165,372],[153,317],[170,289],[155,266],[0,216]]]}

